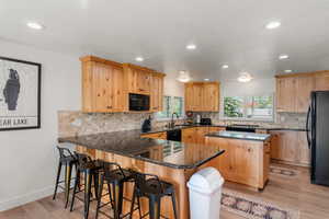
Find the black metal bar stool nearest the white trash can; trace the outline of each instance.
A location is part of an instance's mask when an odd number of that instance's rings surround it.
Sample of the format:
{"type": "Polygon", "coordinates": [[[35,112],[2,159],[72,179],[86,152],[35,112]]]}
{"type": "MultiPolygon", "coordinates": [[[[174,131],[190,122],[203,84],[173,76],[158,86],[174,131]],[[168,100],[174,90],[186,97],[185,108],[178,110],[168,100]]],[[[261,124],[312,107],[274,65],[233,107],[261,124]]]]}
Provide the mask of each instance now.
{"type": "Polygon", "coordinates": [[[172,201],[174,219],[178,219],[174,187],[172,184],[167,183],[164,181],[160,181],[159,177],[154,174],[135,172],[134,178],[135,178],[135,187],[134,187],[134,195],[133,195],[132,207],[131,207],[131,218],[133,217],[133,212],[135,211],[134,205],[136,198],[137,198],[138,209],[140,209],[140,204],[139,204],[140,197],[148,198],[149,212],[141,217],[139,212],[139,218],[144,218],[147,215],[149,215],[150,219],[159,219],[160,217],[166,218],[160,215],[161,198],[164,196],[170,196],[172,201]]]}

